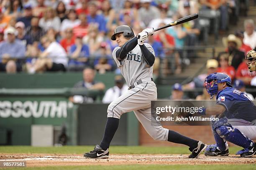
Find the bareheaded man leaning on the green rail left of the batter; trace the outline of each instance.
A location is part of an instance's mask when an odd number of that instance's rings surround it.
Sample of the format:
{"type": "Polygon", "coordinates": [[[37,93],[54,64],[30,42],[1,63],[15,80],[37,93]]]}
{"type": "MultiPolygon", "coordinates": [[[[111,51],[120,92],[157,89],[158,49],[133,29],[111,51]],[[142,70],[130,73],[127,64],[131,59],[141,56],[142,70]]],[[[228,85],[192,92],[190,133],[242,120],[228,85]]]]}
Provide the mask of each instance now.
{"type": "MultiPolygon", "coordinates": [[[[103,91],[105,89],[105,85],[100,81],[95,81],[95,70],[91,68],[86,68],[83,71],[83,81],[79,81],[74,85],[76,89],[84,89],[84,90],[99,90],[103,91]]],[[[70,96],[69,101],[73,103],[92,103],[95,101],[96,97],[87,97],[81,95],[70,96]]]]}

